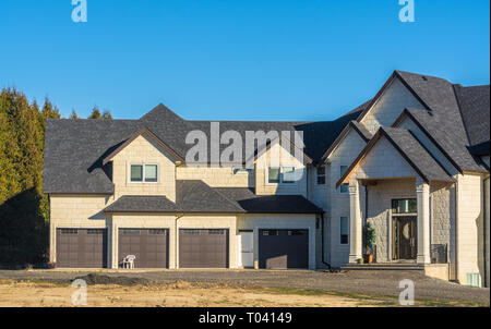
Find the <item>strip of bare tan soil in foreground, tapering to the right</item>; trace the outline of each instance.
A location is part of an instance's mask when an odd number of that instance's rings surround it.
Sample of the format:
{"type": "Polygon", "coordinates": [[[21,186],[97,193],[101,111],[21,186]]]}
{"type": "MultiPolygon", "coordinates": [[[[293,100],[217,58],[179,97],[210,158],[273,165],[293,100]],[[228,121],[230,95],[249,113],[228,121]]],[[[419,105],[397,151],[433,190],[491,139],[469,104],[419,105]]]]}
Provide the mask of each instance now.
{"type": "MultiPolygon", "coordinates": [[[[75,288],[52,282],[0,280],[0,307],[65,307],[75,288]]],[[[330,294],[291,294],[261,288],[216,283],[95,284],[87,287],[87,304],[94,307],[330,307],[376,306],[386,301],[330,294]]]]}

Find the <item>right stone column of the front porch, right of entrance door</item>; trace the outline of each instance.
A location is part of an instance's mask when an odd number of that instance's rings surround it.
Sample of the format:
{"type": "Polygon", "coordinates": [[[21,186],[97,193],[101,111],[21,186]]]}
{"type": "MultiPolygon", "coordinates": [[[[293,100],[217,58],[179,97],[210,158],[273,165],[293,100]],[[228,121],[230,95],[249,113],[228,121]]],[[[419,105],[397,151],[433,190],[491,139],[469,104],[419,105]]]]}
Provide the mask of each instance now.
{"type": "Polygon", "coordinates": [[[418,203],[418,264],[430,264],[430,185],[417,180],[416,196],[418,203]]]}

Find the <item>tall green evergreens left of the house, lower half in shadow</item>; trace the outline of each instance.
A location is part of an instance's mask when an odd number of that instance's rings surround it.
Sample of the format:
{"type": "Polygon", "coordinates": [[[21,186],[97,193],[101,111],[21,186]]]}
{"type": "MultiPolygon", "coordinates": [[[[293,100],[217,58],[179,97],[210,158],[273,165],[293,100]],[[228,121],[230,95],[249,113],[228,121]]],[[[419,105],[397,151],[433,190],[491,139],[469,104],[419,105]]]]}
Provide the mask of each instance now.
{"type": "Polygon", "coordinates": [[[0,93],[0,264],[39,263],[48,247],[49,203],[41,194],[46,99],[29,105],[15,88],[0,93]]]}

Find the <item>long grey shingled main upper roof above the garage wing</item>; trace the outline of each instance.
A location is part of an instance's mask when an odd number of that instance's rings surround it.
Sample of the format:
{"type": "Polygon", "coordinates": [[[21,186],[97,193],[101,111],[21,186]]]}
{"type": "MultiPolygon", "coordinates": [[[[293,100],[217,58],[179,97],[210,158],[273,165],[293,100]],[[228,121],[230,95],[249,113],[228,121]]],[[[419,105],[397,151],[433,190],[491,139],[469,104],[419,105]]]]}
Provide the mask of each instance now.
{"type": "MultiPolygon", "coordinates": [[[[235,130],[242,138],[246,131],[302,131],[304,154],[319,161],[344,126],[356,119],[361,110],[362,108],[357,108],[337,120],[322,122],[217,122],[220,124],[220,132],[235,130]]],[[[177,155],[185,158],[185,153],[192,147],[185,144],[188,132],[201,130],[209,134],[209,123],[211,121],[184,120],[164,105],[158,105],[139,120],[48,119],[43,191],[112,194],[113,184],[104,159],[140,131],[149,131],[177,155]]]]}

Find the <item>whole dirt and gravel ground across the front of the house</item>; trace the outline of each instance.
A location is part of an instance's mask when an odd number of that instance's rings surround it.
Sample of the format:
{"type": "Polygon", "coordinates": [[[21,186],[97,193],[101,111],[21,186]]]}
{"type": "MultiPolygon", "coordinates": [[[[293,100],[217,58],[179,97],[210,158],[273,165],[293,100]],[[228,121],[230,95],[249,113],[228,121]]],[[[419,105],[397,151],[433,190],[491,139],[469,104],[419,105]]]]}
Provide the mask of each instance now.
{"type": "MultiPolygon", "coordinates": [[[[36,295],[45,296],[41,305],[63,305],[60,297],[69,301],[67,294],[73,291],[70,282],[87,273],[0,270],[0,306],[12,303],[20,306],[26,300],[20,297],[15,302],[12,296],[17,294],[38,302],[40,300],[36,300],[36,295]],[[15,294],[12,294],[12,289],[15,289],[15,294]],[[35,295],[33,290],[37,292],[35,295]]],[[[448,306],[457,303],[489,306],[490,301],[489,289],[448,283],[415,271],[101,270],[92,278],[95,280],[88,280],[88,293],[97,306],[394,305],[402,291],[398,284],[403,279],[415,282],[415,297],[419,305],[448,306]],[[137,297],[140,295],[141,298],[137,297]]]]}

